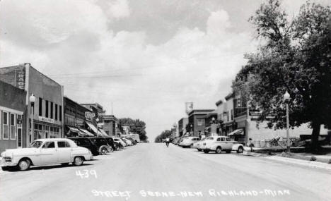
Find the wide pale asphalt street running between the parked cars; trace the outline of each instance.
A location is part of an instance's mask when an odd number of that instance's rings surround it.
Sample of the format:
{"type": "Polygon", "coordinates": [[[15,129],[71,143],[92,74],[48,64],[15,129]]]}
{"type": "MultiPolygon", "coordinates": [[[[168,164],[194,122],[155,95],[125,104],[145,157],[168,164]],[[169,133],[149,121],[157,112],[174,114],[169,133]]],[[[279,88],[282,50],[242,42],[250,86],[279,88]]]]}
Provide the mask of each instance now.
{"type": "Polygon", "coordinates": [[[330,171],[139,144],[83,166],[0,172],[0,200],[331,200],[330,171]]]}

